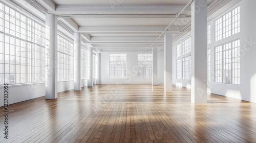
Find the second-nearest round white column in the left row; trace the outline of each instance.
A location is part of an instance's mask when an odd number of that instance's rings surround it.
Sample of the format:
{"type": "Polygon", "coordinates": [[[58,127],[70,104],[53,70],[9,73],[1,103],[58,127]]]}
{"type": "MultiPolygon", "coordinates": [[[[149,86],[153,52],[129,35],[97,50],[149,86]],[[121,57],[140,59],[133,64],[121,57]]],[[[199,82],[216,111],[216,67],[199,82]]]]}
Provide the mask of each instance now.
{"type": "Polygon", "coordinates": [[[74,90],[81,90],[81,33],[74,33],[75,43],[75,79],[74,79],[74,90]]]}

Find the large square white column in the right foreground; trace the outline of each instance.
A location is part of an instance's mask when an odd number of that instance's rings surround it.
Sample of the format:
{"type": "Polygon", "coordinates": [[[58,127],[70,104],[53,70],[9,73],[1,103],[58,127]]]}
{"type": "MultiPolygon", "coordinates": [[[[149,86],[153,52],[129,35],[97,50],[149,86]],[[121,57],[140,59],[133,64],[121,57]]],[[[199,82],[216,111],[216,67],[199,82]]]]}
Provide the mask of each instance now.
{"type": "Polygon", "coordinates": [[[191,102],[207,103],[207,0],[191,4],[191,102]]]}

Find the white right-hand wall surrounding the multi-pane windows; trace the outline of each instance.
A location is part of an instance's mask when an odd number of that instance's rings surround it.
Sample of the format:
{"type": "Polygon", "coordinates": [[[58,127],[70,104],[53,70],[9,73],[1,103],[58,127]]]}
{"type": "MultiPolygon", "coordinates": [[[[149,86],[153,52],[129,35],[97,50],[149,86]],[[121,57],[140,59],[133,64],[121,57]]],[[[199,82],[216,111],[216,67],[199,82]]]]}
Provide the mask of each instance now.
{"type": "MultiPolygon", "coordinates": [[[[224,38],[215,42],[215,24],[214,20],[208,22],[211,24],[211,44],[208,47],[211,49],[211,82],[208,82],[208,92],[220,94],[231,98],[241,99],[256,103],[256,19],[253,18],[256,10],[254,6],[256,1],[244,0],[238,5],[231,7],[226,12],[240,5],[240,33],[224,38]],[[235,39],[240,39],[240,85],[215,83],[215,46],[230,42],[235,39]]],[[[224,12],[223,14],[225,14],[224,12]]],[[[187,38],[190,33],[183,36],[173,46],[173,83],[183,87],[190,88],[190,81],[176,79],[176,45],[187,38]]]]}

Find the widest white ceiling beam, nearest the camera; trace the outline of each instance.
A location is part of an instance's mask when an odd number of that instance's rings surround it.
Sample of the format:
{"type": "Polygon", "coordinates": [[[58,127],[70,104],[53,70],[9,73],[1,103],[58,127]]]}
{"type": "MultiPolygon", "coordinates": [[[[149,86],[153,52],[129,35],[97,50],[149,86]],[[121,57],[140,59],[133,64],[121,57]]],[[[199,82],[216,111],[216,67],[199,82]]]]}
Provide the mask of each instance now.
{"type": "MultiPolygon", "coordinates": [[[[46,0],[45,0],[46,1],[46,0]]],[[[57,5],[56,14],[176,14],[185,5],[57,5]]],[[[187,8],[184,12],[190,12],[187,8]]]]}

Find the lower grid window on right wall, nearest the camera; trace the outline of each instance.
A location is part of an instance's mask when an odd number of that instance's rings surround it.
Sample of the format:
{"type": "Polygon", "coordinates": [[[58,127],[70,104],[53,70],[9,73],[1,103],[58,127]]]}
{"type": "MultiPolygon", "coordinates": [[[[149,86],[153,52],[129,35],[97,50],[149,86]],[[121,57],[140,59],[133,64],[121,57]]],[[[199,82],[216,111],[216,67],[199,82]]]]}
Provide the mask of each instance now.
{"type": "Polygon", "coordinates": [[[215,47],[215,82],[240,84],[240,40],[215,47]]]}

